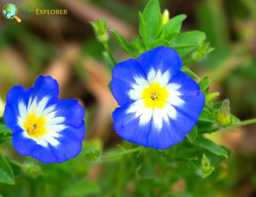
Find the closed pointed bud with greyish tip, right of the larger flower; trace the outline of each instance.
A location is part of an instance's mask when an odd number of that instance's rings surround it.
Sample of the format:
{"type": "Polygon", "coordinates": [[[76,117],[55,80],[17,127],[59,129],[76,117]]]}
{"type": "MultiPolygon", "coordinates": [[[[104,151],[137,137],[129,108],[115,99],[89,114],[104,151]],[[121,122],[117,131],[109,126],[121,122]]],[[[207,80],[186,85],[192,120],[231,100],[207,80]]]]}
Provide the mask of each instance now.
{"type": "Polygon", "coordinates": [[[231,125],[230,119],[230,102],[229,99],[223,101],[218,113],[218,121],[221,126],[227,127],[231,125]]]}

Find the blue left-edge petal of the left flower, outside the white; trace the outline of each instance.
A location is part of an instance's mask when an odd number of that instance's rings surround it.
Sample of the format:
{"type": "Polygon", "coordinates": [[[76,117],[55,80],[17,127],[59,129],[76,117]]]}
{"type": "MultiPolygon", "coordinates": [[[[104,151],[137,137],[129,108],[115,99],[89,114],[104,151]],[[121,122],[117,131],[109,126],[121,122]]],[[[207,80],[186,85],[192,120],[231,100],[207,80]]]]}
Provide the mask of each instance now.
{"type": "Polygon", "coordinates": [[[7,127],[11,129],[14,133],[23,130],[17,123],[18,117],[20,116],[18,105],[21,102],[25,105],[25,107],[27,107],[23,87],[12,87],[6,96],[7,105],[4,109],[4,122],[7,127]]]}

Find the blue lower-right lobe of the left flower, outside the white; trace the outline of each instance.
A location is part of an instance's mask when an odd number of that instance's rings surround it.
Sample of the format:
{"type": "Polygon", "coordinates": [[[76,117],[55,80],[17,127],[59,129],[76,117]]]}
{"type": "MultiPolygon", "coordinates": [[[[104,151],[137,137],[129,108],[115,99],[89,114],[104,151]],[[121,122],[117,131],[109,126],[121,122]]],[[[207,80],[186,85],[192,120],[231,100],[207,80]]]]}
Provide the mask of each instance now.
{"type": "Polygon", "coordinates": [[[60,144],[52,146],[56,155],[57,162],[61,163],[76,157],[82,149],[82,140],[84,139],[84,122],[79,128],[68,127],[60,132],[64,134],[62,137],[56,138],[60,144]]]}

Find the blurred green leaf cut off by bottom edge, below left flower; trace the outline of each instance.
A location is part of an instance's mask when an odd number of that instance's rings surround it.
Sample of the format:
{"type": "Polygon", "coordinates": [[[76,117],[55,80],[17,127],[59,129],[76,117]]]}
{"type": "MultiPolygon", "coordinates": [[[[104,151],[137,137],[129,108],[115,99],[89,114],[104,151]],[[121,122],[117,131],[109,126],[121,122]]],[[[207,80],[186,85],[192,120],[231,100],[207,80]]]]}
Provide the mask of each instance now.
{"type": "Polygon", "coordinates": [[[63,188],[64,197],[96,195],[100,192],[101,188],[96,183],[89,181],[71,182],[68,187],[63,188]]]}

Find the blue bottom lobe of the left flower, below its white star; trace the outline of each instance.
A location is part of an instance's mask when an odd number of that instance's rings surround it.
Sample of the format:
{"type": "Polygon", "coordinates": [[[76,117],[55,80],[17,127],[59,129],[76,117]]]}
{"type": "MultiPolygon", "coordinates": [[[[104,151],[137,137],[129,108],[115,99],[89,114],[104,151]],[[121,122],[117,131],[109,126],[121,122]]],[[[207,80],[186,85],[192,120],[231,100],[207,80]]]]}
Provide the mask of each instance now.
{"type": "Polygon", "coordinates": [[[57,162],[57,158],[53,152],[52,146],[48,144],[47,147],[36,145],[31,152],[31,157],[43,162],[43,163],[53,163],[57,162]]]}

